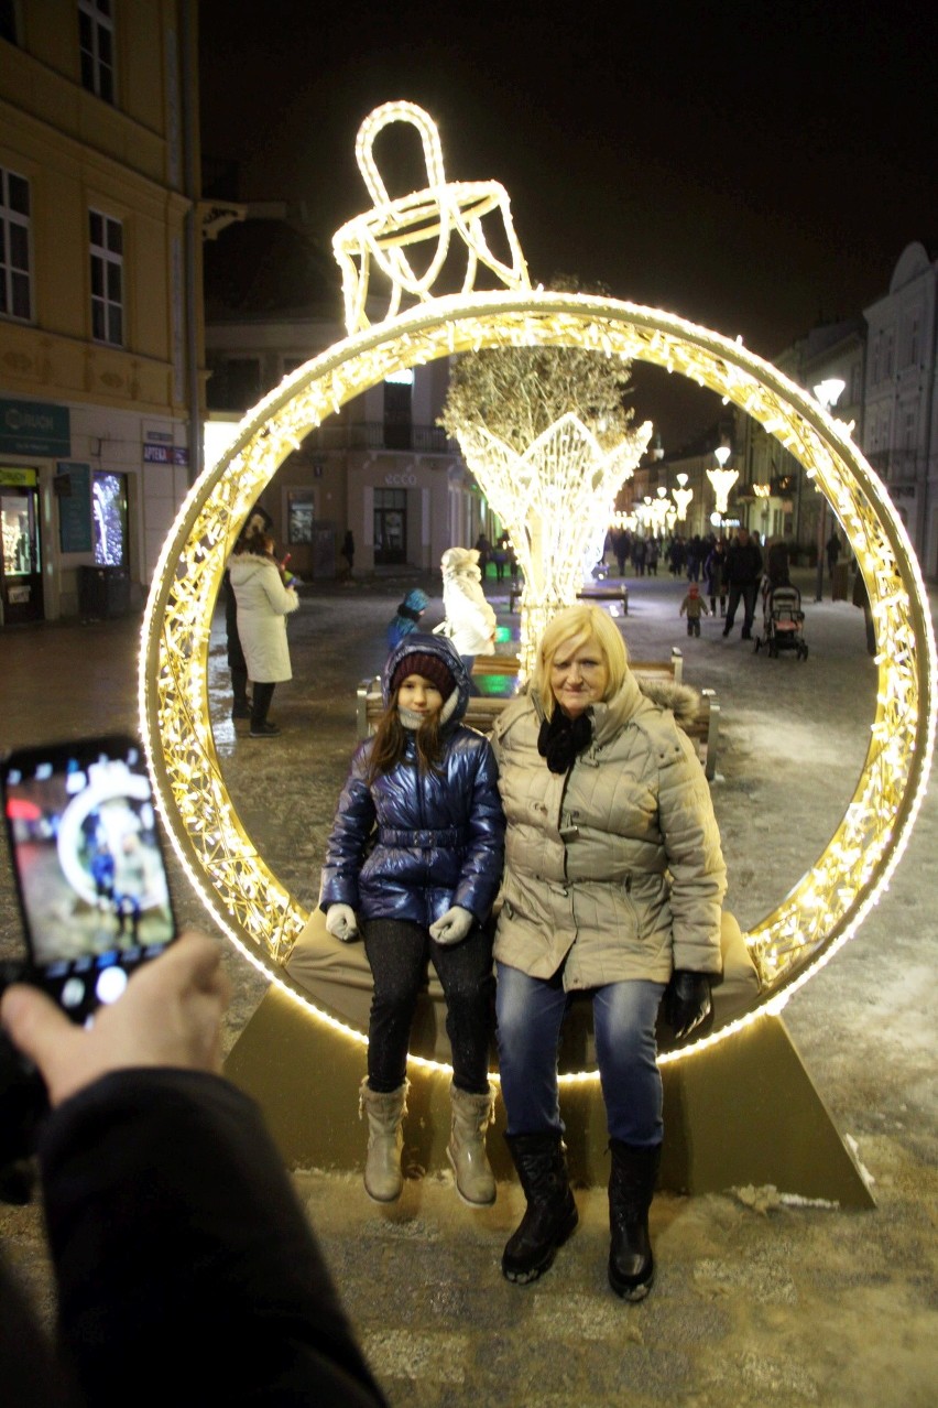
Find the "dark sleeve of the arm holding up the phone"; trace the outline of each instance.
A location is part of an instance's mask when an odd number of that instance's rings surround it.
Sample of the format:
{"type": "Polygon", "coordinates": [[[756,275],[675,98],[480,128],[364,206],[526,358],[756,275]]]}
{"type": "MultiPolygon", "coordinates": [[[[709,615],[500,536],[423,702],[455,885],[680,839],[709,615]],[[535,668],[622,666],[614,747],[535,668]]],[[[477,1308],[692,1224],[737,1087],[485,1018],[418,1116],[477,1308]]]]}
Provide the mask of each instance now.
{"type": "Polygon", "coordinates": [[[51,1115],[39,1157],[62,1352],[89,1402],[135,1383],[141,1402],[385,1402],[228,1081],[117,1071],[51,1115]]]}

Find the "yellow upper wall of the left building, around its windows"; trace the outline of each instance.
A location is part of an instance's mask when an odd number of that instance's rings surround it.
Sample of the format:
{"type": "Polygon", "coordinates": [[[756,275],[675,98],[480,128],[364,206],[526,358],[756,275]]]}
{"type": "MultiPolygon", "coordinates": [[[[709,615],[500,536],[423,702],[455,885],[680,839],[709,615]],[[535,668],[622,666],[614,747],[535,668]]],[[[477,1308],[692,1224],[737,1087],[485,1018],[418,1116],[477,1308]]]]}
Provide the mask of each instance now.
{"type": "MultiPolygon", "coordinates": [[[[11,396],[179,415],[190,394],[184,367],[173,366],[187,348],[190,201],[169,184],[170,170],[183,179],[172,146],[181,114],[167,111],[170,89],[183,100],[167,83],[166,25],[180,42],[177,6],[115,7],[117,107],[80,87],[73,0],[24,11],[24,48],[1,45],[0,165],[30,182],[34,321],[0,320],[0,384],[11,396]],[[124,225],[122,348],[91,342],[91,208],[124,225]]],[[[197,137],[194,145],[197,158],[197,137]]],[[[203,387],[201,260],[195,284],[203,387]]]]}

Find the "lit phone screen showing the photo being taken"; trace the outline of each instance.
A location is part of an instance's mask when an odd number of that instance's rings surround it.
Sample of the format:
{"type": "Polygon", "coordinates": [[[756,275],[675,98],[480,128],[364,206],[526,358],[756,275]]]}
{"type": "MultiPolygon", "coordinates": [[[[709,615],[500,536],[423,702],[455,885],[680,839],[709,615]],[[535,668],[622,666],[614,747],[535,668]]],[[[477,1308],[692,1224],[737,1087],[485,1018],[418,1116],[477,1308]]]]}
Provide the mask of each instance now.
{"type": "Polygon", "coordinates": [[[176,936],[139,741],[11,753],[3,793],[31,981],[76,1022],[176,936]]]}

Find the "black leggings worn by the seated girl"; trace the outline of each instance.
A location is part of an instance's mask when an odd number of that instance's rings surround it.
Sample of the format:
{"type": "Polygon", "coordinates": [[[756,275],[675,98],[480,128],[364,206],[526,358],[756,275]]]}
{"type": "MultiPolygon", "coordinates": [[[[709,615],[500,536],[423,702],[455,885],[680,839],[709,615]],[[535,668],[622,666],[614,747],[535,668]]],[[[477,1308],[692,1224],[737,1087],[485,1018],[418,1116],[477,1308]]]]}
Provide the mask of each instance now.
{"type": "Polygon", "coordinates": [[[461,943],[435,943],[406,919],[367,919],[364,952],[374,977],[368,1019],[368,1086],[388,1094],[404,1084],[411,1025],[426,962],[446,997],[446,1033],[453,1049],[453,1083],[474,1095],[488,1091],[489,1041],[495,1025],[492,941],[474,926],[461,943]]]}

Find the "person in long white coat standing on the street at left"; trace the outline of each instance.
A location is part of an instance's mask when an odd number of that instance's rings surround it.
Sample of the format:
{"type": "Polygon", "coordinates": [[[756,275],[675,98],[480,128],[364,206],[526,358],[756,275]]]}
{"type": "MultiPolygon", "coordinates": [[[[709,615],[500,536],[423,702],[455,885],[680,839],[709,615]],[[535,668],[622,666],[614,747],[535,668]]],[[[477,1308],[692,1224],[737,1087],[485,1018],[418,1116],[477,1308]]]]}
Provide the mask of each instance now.
{"type": "Polygon", "coordinates": [[[231,558],[229,576],[238,604],[238,635],[253,684],[250,736],[273,738],[280,729],[267,712],[274,687],[293,679],[287,617],[300,605],[300,597],[285,584],[274,558],[274,541],[263,528],[245,536],[231,558]]]}

